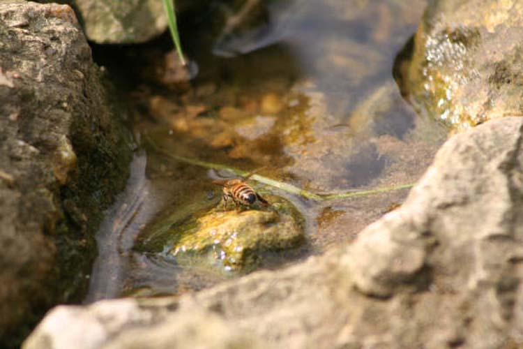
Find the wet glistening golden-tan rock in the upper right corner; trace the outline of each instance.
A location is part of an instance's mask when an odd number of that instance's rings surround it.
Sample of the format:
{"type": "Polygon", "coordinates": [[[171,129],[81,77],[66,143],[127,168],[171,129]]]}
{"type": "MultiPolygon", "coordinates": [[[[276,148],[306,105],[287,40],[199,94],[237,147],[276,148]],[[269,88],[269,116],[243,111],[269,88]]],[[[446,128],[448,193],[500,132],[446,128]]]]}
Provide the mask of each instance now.
{"type": "Polygon", "coordinates": [[[432,1],[402,68],[402,91],[464,130],[523,112],[520,1],[432,1]]]}

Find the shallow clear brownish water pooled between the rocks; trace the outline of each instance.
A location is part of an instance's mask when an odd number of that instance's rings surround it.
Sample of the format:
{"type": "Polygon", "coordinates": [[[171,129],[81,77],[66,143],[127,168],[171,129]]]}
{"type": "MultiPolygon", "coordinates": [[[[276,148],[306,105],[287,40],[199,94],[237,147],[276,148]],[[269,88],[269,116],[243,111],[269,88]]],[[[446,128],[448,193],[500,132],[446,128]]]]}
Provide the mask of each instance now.
{"type": "MultiPolygon", "coordinates": [[[[165,251],[133,249],[144,230],[173,212],[217,205],[220,188],[211,179],[230,176],[165,153],[241,170],[264,168],[266,177],[336,194],[414,183],[446,138],[436,121],[414,113],[393,80],[394,59],[414,34],[425,1],[287,0],[267,6],[270,21],[263,30],[227,39],[209,35],[203,24],[192,27],[206,17],[185,20],[182,36],[191,33],[185,40],[195,44],[186,48],[199,67],[190,86],[169,89],[165,80],[155,81],[147,73],[154,60],[137,68],[144,74],[132,80],[130,103],[146,152],[135,156],[126,193],[98,233],[100,255],[87,302],[178,295],[237,276],[182,267],[165,251]]],[[[408,193],[314,202],[252,185],[291,201],[305,218],[307,236],[301,248],[265,255],[260,268],[351,241],[408,193]]]]}

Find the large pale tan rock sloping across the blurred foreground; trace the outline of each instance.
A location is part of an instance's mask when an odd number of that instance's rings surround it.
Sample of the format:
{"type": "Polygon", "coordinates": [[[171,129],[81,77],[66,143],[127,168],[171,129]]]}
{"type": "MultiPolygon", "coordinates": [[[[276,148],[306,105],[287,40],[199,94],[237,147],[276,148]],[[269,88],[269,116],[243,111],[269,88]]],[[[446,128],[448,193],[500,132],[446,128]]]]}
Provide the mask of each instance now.
{"type": "Polygon", "coordinates": [[[59,307],[24,348],[519,348],[522,142],[523,118],[489,121],[354,244],[179,299],[59,307]]]}

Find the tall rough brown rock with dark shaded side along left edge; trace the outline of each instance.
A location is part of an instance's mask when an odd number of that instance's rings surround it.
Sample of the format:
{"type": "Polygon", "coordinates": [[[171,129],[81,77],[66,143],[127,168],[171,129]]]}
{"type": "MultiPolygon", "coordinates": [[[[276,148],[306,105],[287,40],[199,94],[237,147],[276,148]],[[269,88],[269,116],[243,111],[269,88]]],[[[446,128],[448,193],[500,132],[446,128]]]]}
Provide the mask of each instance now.
{"type": "Polygon", "coordinates": [[[79,299],[93,230],[130,161],[100,69],[65,5],[0,2],[0,346],[79,299]]]}

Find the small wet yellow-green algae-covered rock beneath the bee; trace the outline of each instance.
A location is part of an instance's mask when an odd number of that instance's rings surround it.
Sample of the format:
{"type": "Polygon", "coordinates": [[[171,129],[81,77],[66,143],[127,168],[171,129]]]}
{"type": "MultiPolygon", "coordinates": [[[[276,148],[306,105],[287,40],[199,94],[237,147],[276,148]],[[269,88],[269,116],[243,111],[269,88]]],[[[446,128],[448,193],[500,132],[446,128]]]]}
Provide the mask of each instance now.
{"type": "Polygon", "coordinates": [[[267,209],[213,208],[171,221],[167,230],[152,230],[150,236],[156,238],[144,240],[139,249],[160,251],[158,242],[164,242],[162,251],[181,265],[249,272],[264,253],[294,248],[305,240],[302,218],[291,203],[271,195],[268,200],[267,209]]]}

